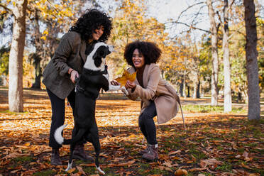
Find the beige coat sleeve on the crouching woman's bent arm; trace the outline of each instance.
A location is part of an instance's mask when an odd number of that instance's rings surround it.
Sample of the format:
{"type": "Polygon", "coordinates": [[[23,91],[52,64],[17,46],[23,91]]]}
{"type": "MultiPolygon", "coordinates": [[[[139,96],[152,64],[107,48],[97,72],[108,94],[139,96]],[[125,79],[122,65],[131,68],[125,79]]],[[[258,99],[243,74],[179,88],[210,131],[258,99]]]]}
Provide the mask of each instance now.
{"type": "Polygon", "coordinates": [[[158,65],[150,70],[149,75],[147,87],[143,88],[140,85],[136,85],[136,89],[132,94],[137,94],[141,99],[153,99],[158,87],[158,82],[160,82],[160,69],[158,65]]]}

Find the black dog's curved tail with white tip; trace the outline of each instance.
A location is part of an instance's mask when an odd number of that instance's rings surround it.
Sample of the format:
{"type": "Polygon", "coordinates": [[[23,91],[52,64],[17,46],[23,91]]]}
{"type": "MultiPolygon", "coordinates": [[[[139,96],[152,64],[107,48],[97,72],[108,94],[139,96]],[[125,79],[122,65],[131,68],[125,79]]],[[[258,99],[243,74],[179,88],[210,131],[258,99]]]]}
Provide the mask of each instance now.
{"type": "Polygon", "coordinates": [[[68,144],[71,144],[71,143],[76,143],[77,141],[82,139],[82,136],[85,133],[85,129],[83,129],[83,128],[79,129],[79,131],[77,132],[77,135],[75,136],[74,139],[65,139],[65,138],[63,138],[62,137],[62,131],[63,131],[63,129],[66,126],[67,126],[67,124],[62,125],[62,126],[60,126],[59,128],[57,128],[55,130],[54,138],[55,138],[55,141],[57,141],[57,143],[59,143],[60,145],[62,145],[62,144],[68,145],[68,144]]]}

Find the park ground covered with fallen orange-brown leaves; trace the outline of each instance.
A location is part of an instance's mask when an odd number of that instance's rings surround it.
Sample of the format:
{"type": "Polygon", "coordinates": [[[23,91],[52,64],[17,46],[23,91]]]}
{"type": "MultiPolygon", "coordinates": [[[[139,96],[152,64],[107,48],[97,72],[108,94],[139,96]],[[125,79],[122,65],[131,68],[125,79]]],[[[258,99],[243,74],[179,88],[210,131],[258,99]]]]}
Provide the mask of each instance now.
{"type": "MultiPolygon", "coordinates": [[[[75,167],[65,172],[67,145],[60,149],[63,165],[50,165],[50,101],[45,91],[23,93],[24,112],[11,113],[7,89],[0,87],[0,175],[98,175],[92,161],[82,160],[75,160],[75,167]]],[[[193,105],[209,99],[183,100],[187,130],[180,114],[158,126],[159,160],[151,163],[138,154],[145,147],[138,128],[140,102],[115,96],[97,100],[100,160],[106,175],[264,175],[264,121],[248,121],[245,106],[224,114],[221,108],[193,105]]],[[[67,106],[66,138],[72,119],[67,106]]],[[[90,143],[85,149],[94,155],[90,143]]]]}

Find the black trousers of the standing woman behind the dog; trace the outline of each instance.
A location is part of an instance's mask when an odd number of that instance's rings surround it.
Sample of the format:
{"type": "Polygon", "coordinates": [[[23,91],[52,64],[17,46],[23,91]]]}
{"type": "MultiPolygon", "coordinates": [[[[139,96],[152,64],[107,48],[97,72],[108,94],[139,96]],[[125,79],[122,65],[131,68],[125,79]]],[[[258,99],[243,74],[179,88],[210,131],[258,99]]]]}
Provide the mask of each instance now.
{"type": "MultiPolygon", "coordinates": [[[[54,133],[55,130],[62,126],[65,121],[65,99],[60,99],[57,97],[53,92],[47,89],[48,96],[50,97],[51,102],[51,109],[53,112],[53,116],[51,118],[51,125],[50,125],[50,147],[52,148],[61,148],[62,145],[58,144],[55,141],[54,133]]],[[[72,112],[75,114],[75,89],[70,92],[69,96],[67,97],[70,106],[72,107],[72,112]]]]}

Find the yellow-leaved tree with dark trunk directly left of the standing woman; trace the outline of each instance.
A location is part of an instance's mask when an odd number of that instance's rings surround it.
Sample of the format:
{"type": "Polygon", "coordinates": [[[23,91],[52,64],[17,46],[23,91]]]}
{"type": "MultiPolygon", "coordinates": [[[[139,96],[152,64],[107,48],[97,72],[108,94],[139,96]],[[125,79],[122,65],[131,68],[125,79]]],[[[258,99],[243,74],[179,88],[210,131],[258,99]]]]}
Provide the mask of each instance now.
{"type": "Polygon", "coordinates": [[[73,4],[70,1],[29,1],[28,23],[31,38],[28,38],[28,45],[35,48],[29,55],[31,63],[35,67],[35,82],[33,88],[40,88],[40,78],[46,63],[53,56],[58,44],[58,35],[67,32],[67,29],[74,22],[79,1],[73,4]],[[64,23],[69,21],[69,23],[64,23]]]}

